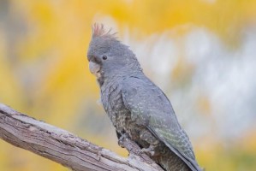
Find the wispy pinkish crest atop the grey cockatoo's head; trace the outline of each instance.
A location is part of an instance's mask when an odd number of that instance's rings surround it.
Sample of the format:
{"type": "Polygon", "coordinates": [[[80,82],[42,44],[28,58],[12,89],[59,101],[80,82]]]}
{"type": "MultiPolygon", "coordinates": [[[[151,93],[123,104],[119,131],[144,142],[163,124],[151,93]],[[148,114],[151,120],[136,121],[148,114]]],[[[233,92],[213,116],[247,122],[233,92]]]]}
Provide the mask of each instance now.
{"type": "Polygon", "coordinates": [[[110,28],[109,31],[104,29],[103,24],[94,23],[92,26],[92,38],[96,37],[108,37],[108,38],[115,38],[116,39],[116,32],[111,33],[112,29],[110,28]]]}

